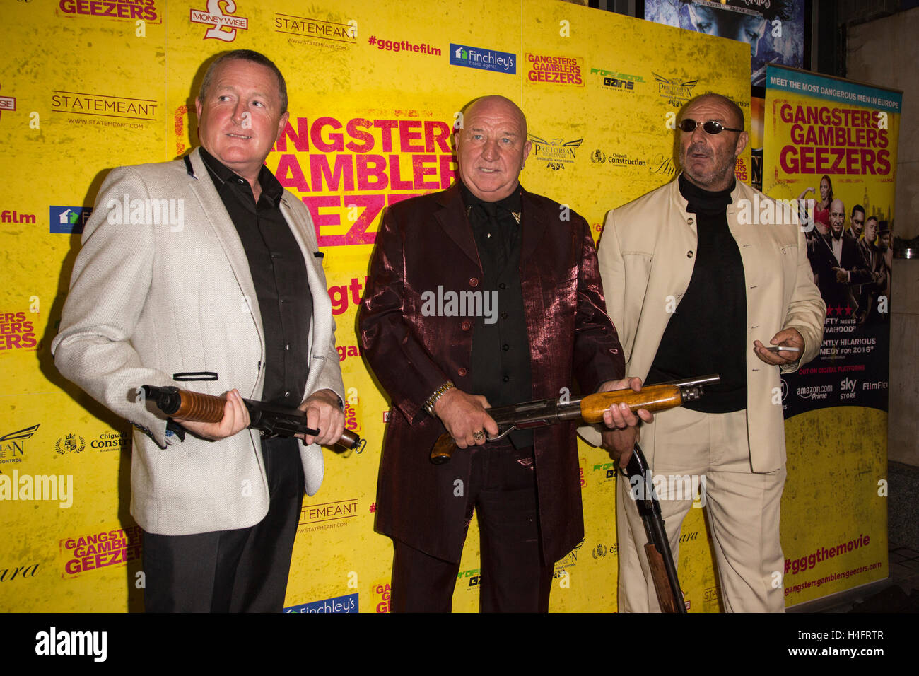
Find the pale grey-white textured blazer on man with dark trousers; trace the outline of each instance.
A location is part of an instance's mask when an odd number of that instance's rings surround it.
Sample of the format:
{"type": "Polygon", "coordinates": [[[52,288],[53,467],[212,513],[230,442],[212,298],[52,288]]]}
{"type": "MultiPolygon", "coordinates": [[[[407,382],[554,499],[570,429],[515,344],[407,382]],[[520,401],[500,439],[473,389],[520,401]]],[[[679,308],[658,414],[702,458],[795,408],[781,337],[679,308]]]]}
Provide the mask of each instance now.
{"type": "MultiPolygon", "coordinates": [[[[137,394],[151,384],[262,395],[265,337],[248,260],[198,150],[188,159],[191,171],[176,160],[108,174],[51,345],[66,378],[137,428],[130,512],[144,530],[165,535],[244,528],[268,509],[260,432],[167,443],[165,417],[137,394]],[[182,223],[145,222],[140,212],[130,223],[121,213],[126,201],[133,207],[152,200],[176,200],[182,223]],[[172,377],[178,372],[216,372],[218,379],[181,383],[172,377]]],[[[312,292],[304,398],[322,389],[344,397],[310,213],[287,191],[280,208],[300,244],[312,292]]],[[[301,447],[301,460],[312,495],[323,480],[321,447],[301,447]]]]}

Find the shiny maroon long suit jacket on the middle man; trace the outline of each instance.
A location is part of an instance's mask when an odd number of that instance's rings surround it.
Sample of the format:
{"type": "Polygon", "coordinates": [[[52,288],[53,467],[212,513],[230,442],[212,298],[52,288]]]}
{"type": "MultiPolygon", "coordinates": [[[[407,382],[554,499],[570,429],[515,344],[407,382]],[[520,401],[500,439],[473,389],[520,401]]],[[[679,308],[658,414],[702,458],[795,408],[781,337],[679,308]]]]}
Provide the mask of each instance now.
{"type": "MultiPolygon", "coordinates": [[[[624,371],[606,312],[596,249],[583,218],[523,191],[520,281],[532,398],[558,398],[576,376],[595,392],[624,371]]],[[[476,291],[482,266],[459,187],[398,202],[383,217],[358,322],[364,353],[392,409],[377,485],[376,530],[430,556],[459,562],[465,538],[470,456],[430,461],[444,433],[423,405],[453,381],[470,394],[475,317],[425,316],[422,294],[476,291]],[[458,483],[458,480],[462,484],[458,483]],[[462,487],[462,491],[459,490],[462,487]]],[[[500,309],[500,308],[499,308],[500,309]]],[[[584,538],[573,423],[535,430],[542,554],[565,556],[584,538]]]]}

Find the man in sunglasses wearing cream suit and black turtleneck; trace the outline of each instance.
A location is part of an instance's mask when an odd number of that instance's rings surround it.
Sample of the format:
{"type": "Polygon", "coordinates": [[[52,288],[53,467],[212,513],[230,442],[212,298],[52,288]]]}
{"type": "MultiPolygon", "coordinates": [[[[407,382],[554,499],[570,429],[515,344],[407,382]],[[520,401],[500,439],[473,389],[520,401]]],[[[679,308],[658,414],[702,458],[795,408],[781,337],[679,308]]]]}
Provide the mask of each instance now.
{"type": "MultiPolygon", "coordinates": [[[[683,173],[607,217],[599,247],[607,309],[628,375],[653,384],[720,374],[701,400],[643,426],[641,447],[654,475],[700,477],[725,610],[782,612],[779,372],[816,356],[825,307],[799,226],[738,222],[739,210],[756,203],[756,191],[733,176],[747,143],[741,109],[709,94],[686,104],[679,120],[683,173]]],[[[606,431],[603,443],[621,465],[635,437],[635,430],[606,431]]],[[[675,556],[692,505],[680,497],[661,496],[675,556]]],[[[657,612],[641,552],[646,538],[625,481],[617,514],[619,610],[657,612]]]]}

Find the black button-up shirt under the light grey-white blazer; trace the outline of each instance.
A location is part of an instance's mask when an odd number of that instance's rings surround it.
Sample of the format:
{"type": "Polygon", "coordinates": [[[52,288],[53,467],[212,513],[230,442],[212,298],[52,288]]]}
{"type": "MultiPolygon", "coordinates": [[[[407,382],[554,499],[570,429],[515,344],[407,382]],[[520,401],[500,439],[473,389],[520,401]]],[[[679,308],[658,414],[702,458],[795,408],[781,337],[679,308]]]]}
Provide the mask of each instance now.
{"type": "MultiPolygon", "coordinates": [[[[309,373],[312,293],[300,245],[280,211],[284,188],[267,166],[262,166],[258,175],[262,193],[256,204],[248,181],[204,148],[200,154],[243,243],[255,284],[265,334],[262,399],[298,407],[309,373]]],[[[201,261],[201,265],[207,264],[201,261]]]]}

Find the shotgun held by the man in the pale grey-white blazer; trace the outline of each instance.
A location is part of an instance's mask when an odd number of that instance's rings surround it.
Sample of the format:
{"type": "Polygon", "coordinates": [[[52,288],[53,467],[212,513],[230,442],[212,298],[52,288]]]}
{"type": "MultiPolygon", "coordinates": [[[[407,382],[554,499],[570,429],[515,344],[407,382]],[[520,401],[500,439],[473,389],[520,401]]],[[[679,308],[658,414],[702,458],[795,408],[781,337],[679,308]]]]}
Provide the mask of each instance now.
{"type": "MultiPolygon", "coordinates": [[[[143,385],[142,390],[170,418],[196,422],[220,422],[223,418],[226,399],[222,396],[153,385],[143,385]]],[[[306,414],[297,408],[276,407],[252,399],[243,399],[243,403],[249,410],[249,427],[252,430],[262,430],[279,437],[319,434],[319,430],[312,430],[307,425],[306,414]]],[[[336,445],[352,450],[363,448],[366,443],[351,430],[345,430],[336,445]]]]}

